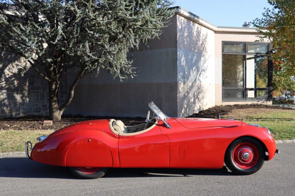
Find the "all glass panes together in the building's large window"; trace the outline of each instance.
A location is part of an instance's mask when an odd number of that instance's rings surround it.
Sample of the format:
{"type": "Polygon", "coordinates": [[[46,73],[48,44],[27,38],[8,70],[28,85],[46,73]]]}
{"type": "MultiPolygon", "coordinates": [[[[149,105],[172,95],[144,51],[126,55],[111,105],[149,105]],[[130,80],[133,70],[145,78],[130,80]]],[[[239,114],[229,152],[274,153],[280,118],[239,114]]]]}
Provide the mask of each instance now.
{"type": "Polygon", "coordinates": [[[268,44],[223,42],[223,100],[268,98],[268,44]],[[247,48],[247,51],[245,51],[247,48]]]}

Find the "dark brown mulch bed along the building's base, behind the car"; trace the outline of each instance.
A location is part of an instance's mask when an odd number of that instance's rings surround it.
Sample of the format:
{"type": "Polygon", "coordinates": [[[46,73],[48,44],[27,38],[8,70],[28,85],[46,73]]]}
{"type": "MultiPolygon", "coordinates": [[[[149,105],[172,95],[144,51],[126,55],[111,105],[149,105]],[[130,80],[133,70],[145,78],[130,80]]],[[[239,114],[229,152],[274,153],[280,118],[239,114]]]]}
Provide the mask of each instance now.
{"type": "MultiPolygon", "coordinates": [[[[192,114],[188,117],[190,118],[217,118],[217,114],[225,115],[230,113],[234,109],[245,109],[245,108],[271,108],[271,109],[291,109],[278,106],[270,105],[254,105],[254,104],[245,104],[245,105],[228,105],[228,106],[215,106],[206,110],[202,110],[199,113],[192,114]]],[[[116,119],[122,120],[125,125],[136,125],[144,122],[143,117],[109,117],[109,116],[81,116],[81,115],[65,115],[62,117],[62,120],[59,122],[53,122],[52,125],[43,125],[44,120],[50,120],[49,117],[40,117],[40,116],[26,116],[26,117],[17,117],[17,118],[3,118],[0,119],[0,130],[47,130],[53,129],[57,130],[68,126],[70,124],[81,122],[85,120],[94,120],[94,119],[116,119]]]]}

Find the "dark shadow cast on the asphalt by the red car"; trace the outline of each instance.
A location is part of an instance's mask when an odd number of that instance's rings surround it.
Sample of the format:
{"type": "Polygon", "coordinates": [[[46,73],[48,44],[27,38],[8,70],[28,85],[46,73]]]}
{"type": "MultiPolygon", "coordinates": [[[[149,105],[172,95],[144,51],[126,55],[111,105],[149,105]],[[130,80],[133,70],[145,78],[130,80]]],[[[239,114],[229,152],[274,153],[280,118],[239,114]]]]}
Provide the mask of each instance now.
{"type": "MultiPolygon", "coordinates": [[[[118,177],[183,177],[193,175],[233,175],[226,167],[221,169],[170,168],[111,168],[104,178],[118,177]]],[[[26,157],[0,158],[0,177],[76,179],[67,167],[46,165],[26,157]]]]}

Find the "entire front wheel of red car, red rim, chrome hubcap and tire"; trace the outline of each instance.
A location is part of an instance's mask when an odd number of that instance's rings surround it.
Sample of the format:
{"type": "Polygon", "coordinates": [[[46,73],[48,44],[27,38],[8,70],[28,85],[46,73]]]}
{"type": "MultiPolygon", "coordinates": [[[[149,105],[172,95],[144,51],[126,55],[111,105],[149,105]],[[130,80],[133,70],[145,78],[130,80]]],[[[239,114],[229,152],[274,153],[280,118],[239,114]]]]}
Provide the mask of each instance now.
{"type": "Polygon", "coordinates": [[[225,152],[225,165],[234,173],[249,175],[260,170],[265,152],[260,142],[252,137],[233,141],[225,152]]]}

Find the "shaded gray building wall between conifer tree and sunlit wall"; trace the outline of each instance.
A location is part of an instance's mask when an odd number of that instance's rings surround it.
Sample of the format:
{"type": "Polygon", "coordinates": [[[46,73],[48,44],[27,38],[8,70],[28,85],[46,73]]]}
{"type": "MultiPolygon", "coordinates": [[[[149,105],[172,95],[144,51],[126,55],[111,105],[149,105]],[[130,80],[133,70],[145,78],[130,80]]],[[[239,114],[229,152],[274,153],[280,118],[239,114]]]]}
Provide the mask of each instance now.
{"type": "MultiPolygon", "coordinates": [[[[135,50],[132,66],[137,76],[120,82],[101,70],[86,76],[76,86],[67,114],[100,116],[142,116],[153,101],[168,116],[177,116],[177,34],[176,16],[150,49],[135,50]],[[141,51],[142,50],[142,51],[141,51]]],[[[73,76],[68,74],[68,87],[73,76]]]]}

